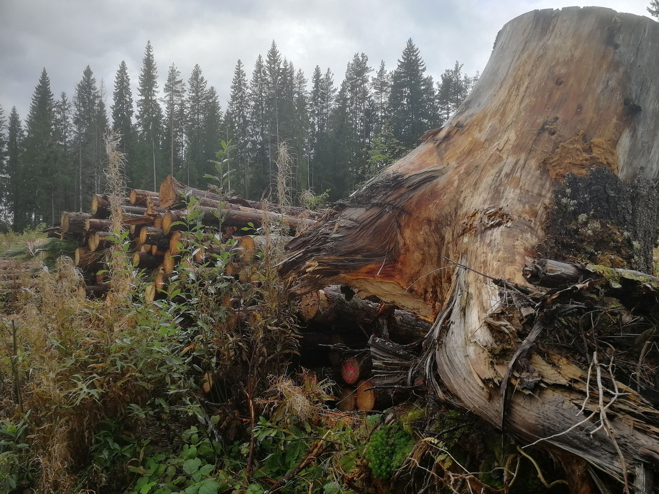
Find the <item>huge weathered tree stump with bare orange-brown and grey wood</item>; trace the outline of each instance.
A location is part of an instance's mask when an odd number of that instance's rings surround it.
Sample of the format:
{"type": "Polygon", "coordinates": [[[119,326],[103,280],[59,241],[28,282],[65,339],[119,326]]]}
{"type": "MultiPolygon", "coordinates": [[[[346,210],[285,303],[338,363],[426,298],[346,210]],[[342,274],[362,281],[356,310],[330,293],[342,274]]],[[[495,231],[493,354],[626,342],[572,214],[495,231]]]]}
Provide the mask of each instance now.
{"type": "MultiPolygon", "coordinates": [[[[507,362],[486,321],[501,307],[501,283],[480,273],[524,285],[534,257],[650,270],[658,47],[659,24],[610,9],[511,20],[449,121],[290,242],[281,275],[297,294],[351,285],[436,321],[428,381],[438,377],[440,399],[501,427],[507,362]]],[[[532,357],[542,386],[509,392],[511,433],[619,480],[659,462],[657,412],[643,397],[627,388],[608,409],[615,443],[607,427],[594,431],[597,417],[570,429],[583,420],[588,366],[551,349],[532,357]]]]}

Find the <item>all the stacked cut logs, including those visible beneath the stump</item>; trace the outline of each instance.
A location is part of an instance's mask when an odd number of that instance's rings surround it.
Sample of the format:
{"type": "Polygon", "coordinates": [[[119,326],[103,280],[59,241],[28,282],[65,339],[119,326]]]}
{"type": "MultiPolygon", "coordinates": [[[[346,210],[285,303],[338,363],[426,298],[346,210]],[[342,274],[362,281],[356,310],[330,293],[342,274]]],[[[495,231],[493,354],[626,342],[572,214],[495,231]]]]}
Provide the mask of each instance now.
{"type": "MultiPolygon", "coordinates": [[[[314,225],[323,214],[302,207],[221,197],[186,186],[171,176],[158,192],[130,190],[127,197],[119,199],[119,207],[132,265],[143,270],[150,282],[145,290],[147,302],[168,296],[169,280],[185,273],[181,263],[193,262],[202,268],[212,261],[212,254],[220,252],[220,244],[231,238],[235,246],[225,274],[249,281],[255,269],[254,253],[266,241],[256,234],[264,221],[281,225],[275,235],[287,241],[314,225]],[[194,221],[188,224],[190,215],[194,221]],[[195,232],[196,246],[190,255],[181,256],[192,223],[200,225],[195,232]]],[[[109,196],[94,194],[90,212],[64,212],[60,227],[48,232],[78,244],[74,263],[84,275],[84,292],[90,298],[101,298],[109,291],[107,262],[116,244],[112,213],[109,196]]],[[[338,285],[325,287],[303,298],[299,314],[306,326],[299,365],[318,379],[341,383],[335,395],[338,408],[346,412],[390,404],[390,391],[403,388],[410,366],[405,363],[410,354],[401,345],[419,343],[430,329],[428,323],[409,312],[353,295],[342,292],[338,285]]],[[[248,319],[248,314],[243,319],[248,319]]]]}

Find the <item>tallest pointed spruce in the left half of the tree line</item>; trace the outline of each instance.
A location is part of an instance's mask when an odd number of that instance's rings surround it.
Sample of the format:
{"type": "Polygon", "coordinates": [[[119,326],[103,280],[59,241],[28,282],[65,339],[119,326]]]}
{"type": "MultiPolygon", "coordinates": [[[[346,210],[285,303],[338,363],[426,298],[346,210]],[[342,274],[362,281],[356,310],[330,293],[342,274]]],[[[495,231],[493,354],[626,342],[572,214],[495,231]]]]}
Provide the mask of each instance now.
{"type": "Polygon", "coordinates": [[[140,159],[137,161],[136,185],[146,188],[147,184],[158,190],[158,177],[162,177],[161,159],[162,109],[158,103],[158,67],[151,41],[147,41],[142,58],[142,70],[137,86],[136,123],[140,138],[140,159]],[[151,170],[152,174],[145,173],[151,170]]]}

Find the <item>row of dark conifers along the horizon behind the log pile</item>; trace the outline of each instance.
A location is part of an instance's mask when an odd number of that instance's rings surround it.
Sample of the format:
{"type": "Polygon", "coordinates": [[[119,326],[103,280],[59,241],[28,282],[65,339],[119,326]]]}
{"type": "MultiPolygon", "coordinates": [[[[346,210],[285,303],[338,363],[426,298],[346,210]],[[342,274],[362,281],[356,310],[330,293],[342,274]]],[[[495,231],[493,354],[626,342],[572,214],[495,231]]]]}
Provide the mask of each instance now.
{"type": "Polygon", "coordinates": [[[295,191],[349,195],[418,144],[457,109],[478,79],[455,63],[434,81],[418,48],[408,40],[397,66],[374,70],[355,53],[341,84],[316,66],[310,80],[281,55],[273,41],[248,79],[239,60],[227,109],[199,65],[187,81],[175,65],[162,88],[154,50],[147,43],[137,94],[122,61],[109,95],[91,67],[72,97],[55,98],[45,69],[21,121],[16,107],[0,107],[0,207],[5,229],[57,224],[59,211],[83,210],[105,190],[103,135],[121,133],[132,188],[158,190],[168,173],[194,187],[216,175],[215,153],[231,140],[231,188],[245,198],[274,193],[277,149],[295,158],[295,191]]]}

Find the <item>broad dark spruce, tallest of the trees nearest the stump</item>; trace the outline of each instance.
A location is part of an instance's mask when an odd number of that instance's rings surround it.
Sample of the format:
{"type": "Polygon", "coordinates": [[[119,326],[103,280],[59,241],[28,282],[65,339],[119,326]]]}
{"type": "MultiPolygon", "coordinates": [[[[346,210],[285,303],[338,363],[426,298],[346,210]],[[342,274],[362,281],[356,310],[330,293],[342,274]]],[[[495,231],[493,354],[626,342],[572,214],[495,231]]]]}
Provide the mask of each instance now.
{"type": "Polygon", "coordinates": [[[414,148],[438,120],[434,83],[425,72],[426,64],[410,38],[391,75],[389,96],[393,135],[407,149],[414,148]]]}

